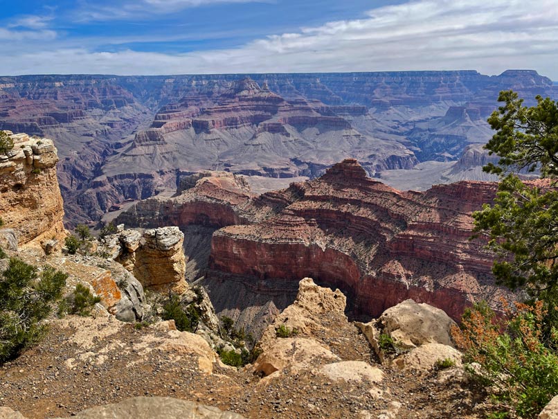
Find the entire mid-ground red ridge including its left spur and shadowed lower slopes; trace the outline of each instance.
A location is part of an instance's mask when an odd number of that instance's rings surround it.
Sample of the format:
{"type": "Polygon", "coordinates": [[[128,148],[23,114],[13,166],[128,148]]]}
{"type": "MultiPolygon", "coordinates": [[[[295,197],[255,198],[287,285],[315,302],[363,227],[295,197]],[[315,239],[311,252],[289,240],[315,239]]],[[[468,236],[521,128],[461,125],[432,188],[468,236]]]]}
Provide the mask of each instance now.
{"type": "Polygon", "coordinates": [[[460,181],[402,192],[345,159],[316,179],[262,195],[228,172],[183,178],[173,197],[153,197],[116,222],[180,226],[188,281],[208,289],[219,314],[252,330],[293,301],[298,280],[337,287],[352,317],[375,317],[407,298],[459,319],[494,285],[494,255],[473,234],[472,211],[492,202],[496,184],[460,181]]]}

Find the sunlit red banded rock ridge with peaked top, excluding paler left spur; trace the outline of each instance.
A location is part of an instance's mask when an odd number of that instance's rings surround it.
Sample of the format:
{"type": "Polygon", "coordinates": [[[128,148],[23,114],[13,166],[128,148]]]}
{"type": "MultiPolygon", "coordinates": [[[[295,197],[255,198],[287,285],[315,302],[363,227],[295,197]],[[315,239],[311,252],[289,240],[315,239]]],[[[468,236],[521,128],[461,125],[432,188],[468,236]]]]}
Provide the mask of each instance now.
{"type": "Polygon", "coordinates": [[[254,224],[216,231],[210,274],[310,276],[350,294],[356,312],[376,316],[413,298],[457,319],[471,301],[502,293],[492,284],[492,255],[469,240],[471,211],[495,191],[496,184],[460,182],[399,192],[345,160],[321,178],[253,200],[246,217],[254,224]]]}

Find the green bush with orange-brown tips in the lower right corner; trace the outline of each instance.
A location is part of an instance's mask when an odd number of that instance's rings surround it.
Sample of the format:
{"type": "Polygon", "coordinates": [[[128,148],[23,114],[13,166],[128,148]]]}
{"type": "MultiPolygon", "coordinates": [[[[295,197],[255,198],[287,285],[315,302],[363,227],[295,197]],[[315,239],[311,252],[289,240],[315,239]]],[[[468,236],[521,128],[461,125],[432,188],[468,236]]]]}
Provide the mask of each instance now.
{"type": "Polygon", "coordinates": [[[490,393],[492,418],[536,418],[558,394],[558,330],[546,336],[546,318],[543,301],[506,307],[504,319],[480,303],[453,328],[465,361],[480,365],[468,369],[490,393]]]}

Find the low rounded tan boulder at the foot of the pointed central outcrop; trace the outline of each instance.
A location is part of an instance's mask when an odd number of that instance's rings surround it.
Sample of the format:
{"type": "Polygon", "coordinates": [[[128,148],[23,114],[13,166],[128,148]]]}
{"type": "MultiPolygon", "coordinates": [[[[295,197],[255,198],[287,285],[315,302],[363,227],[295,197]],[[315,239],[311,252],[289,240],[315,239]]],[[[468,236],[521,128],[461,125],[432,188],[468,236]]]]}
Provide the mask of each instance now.
{"type": "Polygon", "coordinates": [[[273,344],[264,348],[264,352],[256,359],[254,370],[269,375],[287,367],[297,371],[339,360],[337,355],[314,339],[276,339],[273,344]]]}

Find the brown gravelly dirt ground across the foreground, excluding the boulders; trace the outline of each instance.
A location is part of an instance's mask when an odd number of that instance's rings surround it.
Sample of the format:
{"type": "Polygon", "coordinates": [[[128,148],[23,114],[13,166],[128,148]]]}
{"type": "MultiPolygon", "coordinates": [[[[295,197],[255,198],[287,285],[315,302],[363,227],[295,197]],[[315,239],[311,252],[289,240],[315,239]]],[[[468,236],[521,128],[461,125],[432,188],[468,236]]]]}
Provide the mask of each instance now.
{"type": "Polygon", "coordinates": [[[137,395],[158,395],[202,402],[246,418],[485,416],[480,396],[460,380],[443,380],[451,371],[417,375],[386,369],[351,323],[334,317],[323,320],[330,332],[316,338],[343,360],[383,369],[383,382],[332,381],[316,368],[286,368],[276,377],[260,378],[251,366],[236,369],[217,363],[207,374],[199,370],[195,355],[156,349],[157,339],[164,337],[161,330],[100,322],[95,332],[84,333],[80,322],[93,320],[69,317],[52,321],[41,344],[0,367],[0,405],[39,419],[70,416],[137,395]],[[141,347],[140,341],[151,343],[141,347]]]}

